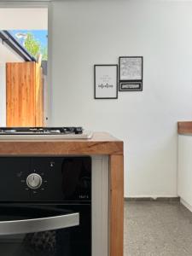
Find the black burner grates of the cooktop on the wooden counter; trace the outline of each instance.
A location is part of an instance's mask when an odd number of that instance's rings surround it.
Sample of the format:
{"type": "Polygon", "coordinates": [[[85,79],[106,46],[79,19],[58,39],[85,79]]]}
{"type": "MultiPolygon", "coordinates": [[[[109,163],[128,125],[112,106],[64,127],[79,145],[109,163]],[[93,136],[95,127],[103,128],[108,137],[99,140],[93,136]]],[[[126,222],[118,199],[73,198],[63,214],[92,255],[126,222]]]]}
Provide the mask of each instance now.
{"type": "Polygon", "coordinates": [[[0,127],[0,135],[67,135],[82,133],[82,127],[0,127]]]}

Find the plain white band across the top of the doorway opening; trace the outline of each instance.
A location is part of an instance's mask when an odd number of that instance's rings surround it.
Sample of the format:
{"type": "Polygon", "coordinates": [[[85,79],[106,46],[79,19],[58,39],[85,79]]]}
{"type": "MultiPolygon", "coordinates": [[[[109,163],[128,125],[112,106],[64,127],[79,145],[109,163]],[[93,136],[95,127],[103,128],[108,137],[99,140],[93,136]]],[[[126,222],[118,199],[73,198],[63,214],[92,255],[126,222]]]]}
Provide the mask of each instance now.
{"type": "Polygon", "coordinates": [[[48,29],[47,8],[0,8],[0,30],[48,29]]]}

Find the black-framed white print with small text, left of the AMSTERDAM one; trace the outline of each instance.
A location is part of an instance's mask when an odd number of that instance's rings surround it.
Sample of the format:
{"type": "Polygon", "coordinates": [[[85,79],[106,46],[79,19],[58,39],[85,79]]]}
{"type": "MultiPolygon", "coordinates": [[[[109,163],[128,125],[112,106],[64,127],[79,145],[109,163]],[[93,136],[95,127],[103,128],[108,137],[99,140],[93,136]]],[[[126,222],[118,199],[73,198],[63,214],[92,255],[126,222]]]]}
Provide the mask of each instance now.
{"type": "Polygon", "coordinates": [[[118,98],[118,65],[94,66],[95,99],[118,98]]]}

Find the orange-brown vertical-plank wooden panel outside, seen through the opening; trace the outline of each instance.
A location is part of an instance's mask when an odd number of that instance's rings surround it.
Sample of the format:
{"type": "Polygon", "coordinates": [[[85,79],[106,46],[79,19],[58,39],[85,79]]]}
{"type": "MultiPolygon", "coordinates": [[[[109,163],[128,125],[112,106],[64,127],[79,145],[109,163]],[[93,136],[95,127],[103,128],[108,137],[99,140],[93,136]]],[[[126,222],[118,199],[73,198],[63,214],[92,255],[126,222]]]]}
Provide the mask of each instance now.
{"type": "Polygon", "coordinates": [[[42,68],[36,62],[7,63],[7,126],[44,124],[41,73],[42,68]]]}

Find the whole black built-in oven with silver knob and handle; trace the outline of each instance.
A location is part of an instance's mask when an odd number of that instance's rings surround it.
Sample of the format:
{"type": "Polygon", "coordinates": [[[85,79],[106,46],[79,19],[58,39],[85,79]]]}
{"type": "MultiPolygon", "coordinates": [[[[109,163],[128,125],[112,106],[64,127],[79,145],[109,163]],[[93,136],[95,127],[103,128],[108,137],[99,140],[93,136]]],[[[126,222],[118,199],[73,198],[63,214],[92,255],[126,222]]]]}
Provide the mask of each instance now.
{"type": "Polygon", "coordinates": [[[91,159],[0,157],[0,255],[91,255],[91,159]]]}

